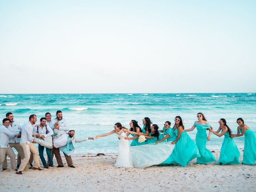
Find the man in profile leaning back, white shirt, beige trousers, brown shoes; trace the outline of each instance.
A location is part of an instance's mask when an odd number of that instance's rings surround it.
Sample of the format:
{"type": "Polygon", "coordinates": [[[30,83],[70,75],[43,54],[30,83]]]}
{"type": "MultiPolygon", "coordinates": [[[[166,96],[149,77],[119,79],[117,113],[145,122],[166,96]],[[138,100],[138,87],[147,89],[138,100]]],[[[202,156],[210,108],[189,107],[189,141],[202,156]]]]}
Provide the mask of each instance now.
{"type": "Polygon", "coordinates": [[[24,123],[22,126],[22,134],[21,134],[21,139],[20,139],[20,145],[23,148],[25,158],[22,160],[20,167],[16,174],[22,174],[22,171],[24,170],[26,164],[29,161],[30,158],[30,152],[33,154],[34,158],[34,170],[42,170],[39,166],[39,158],[38,158],[38,150],[36,146],[34,145],[33,137],[32,137],[32,132],[33,132],[33,125],[35,124],[37,118],[35,114],[32,114],[29,116],[29,121],[24,123]]]}

